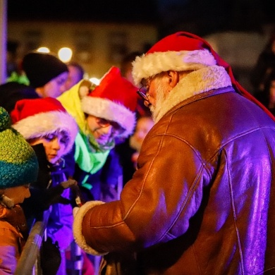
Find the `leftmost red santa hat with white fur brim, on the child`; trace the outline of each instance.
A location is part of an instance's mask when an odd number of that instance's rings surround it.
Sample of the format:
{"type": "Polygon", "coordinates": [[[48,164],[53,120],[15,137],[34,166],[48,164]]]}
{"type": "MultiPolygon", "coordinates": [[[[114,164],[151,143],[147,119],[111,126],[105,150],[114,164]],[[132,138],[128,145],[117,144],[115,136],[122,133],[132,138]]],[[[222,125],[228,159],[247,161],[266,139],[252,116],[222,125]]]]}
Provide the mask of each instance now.
{"type": "Polygon", "coordinates": [[[78,133],[74,118],[52,97],[19,100],[11,111],[11,120],[13,128],[26,140],[41,138],[56,131],[65,132],[68,143],[64,154],[71,150],[78,133]]]}

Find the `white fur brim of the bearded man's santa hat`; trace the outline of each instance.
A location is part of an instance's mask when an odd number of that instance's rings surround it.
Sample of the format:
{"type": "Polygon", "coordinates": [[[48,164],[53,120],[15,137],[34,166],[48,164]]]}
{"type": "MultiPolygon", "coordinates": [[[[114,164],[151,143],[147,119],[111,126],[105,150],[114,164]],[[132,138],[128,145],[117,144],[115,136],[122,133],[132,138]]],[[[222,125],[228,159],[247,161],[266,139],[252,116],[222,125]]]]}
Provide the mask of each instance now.
{"type": "Polygon", "coordinates": [[[166,71],[198,70],[216,65],[216,59],[207,49],[195,51],[156,51],[152,54],[137,56],[133,61],[132,75],[135,85],[142,78],[149,78],[166,71]]]}

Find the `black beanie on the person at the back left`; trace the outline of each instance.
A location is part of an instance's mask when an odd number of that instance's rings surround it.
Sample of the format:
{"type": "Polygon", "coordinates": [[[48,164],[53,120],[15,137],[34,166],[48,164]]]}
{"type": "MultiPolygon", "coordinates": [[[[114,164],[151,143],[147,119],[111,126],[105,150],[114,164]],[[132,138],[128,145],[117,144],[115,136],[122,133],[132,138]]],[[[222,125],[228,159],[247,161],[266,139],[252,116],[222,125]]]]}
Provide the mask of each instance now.
{"type": "Polygon", "coordinates": [[[43,87],[47,82],[56,78],[64,72],[68,72],[68,67],[53,54],[41,52],[31,52],[23,58],[22,68],[30,80],[32,87],[43,87]]]}

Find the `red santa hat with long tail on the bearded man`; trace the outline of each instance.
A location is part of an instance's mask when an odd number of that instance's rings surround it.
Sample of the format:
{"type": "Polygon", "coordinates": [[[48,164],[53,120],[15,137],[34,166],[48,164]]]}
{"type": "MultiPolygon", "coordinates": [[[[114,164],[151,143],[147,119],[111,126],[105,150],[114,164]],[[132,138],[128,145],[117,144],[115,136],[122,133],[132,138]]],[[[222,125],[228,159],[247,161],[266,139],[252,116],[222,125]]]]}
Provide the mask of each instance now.
{"type": "Polygon", "coordinates": [[[207,66],[222,66],[226,69],[233,87],[247,99],[264,109],[271,118],[274,116],[236,81],[231,66],[212,49],[210,44],[189,32],[176,32],[159,40],[142,56],[133,61],[133,78],[138,85],[142,78],[149,78],[165,71],[199,70],[207,66]]]}

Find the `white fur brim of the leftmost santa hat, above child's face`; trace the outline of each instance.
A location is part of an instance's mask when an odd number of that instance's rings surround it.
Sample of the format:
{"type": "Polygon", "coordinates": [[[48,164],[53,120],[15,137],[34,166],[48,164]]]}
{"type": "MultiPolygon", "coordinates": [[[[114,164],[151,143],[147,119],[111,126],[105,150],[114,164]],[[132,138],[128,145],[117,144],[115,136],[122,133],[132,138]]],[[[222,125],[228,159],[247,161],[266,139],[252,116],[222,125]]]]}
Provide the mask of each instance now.
{"type": "Polygon", "coordinates": [[[64,154],[70,152],[78,133],[78,126],[74,118],[63,111],[48,111],[34,116],[27,116],[27,118],[13,124],[13,128],[18,130],[25,140],[40,138],[57,130],[63,130],[69,138],[64,154]]]}

